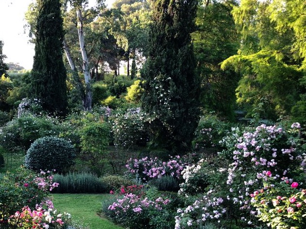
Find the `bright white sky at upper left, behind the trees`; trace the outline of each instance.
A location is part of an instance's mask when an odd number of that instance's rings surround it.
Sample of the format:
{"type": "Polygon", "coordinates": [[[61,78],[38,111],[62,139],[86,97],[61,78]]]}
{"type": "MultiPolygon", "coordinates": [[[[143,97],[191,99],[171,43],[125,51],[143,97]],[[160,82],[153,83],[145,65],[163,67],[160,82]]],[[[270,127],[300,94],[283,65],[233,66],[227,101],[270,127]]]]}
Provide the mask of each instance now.
{"type": "MultiPolygon", "coordinates": [[[[5,63],[17,63],[27,70],[32,69],[34,45],[29,43],[29,36],[24,32],[24,19],[28,6],[35,0],[0,0],[0,40],[3,41],[3,50],[7,58],[5,63]]],[[[111,5],[114,0],[106,0],[111,5]]],[[[89,0],[94,4],[95,0],[89,0]]]]}

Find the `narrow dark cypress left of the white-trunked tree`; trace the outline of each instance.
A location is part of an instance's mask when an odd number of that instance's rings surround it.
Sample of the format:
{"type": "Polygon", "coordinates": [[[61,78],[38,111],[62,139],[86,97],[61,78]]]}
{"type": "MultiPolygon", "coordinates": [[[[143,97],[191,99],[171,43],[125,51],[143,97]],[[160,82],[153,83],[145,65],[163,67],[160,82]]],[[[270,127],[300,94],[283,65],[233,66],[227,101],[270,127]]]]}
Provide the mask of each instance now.
{"type": "Polygon", "coordinates": [[[51,113],[67,111],[67,72],[63,62],[63,18],[60,0],[38,0],[31,96],[51,113]]]}

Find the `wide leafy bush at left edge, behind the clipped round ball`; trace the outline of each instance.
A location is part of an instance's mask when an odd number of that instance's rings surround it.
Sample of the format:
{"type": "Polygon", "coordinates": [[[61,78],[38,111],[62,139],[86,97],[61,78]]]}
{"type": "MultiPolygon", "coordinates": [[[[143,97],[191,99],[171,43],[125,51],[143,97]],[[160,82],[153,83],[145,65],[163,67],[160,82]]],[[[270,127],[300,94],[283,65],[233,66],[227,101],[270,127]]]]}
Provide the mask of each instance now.
{"type": "Polygon", "coordinates": [[[2,127],[0,145],[8,150],[16,148],[27,150],[37,138],[58,136],[60,130],[61,127],[56,119],[26,113],[2,127]]]}

